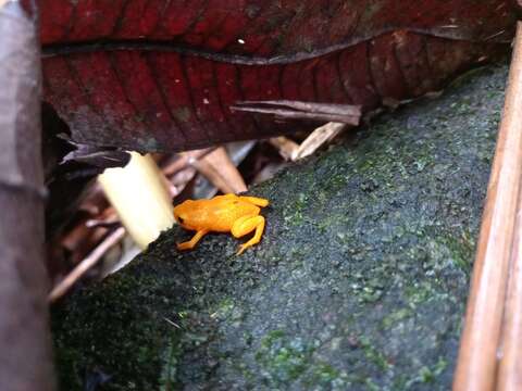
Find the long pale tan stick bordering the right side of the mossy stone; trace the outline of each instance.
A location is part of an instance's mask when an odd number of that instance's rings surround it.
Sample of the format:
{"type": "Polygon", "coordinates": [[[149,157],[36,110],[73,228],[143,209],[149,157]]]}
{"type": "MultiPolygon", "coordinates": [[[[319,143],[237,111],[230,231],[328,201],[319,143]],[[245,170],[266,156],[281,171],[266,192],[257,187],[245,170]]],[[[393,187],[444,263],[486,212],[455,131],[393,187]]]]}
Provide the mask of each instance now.
{"type": "Polygon", "coordinates": [[[453,390],[493,390],[522,177],[522,24],[517,37],[475,257],[453,390]]]}

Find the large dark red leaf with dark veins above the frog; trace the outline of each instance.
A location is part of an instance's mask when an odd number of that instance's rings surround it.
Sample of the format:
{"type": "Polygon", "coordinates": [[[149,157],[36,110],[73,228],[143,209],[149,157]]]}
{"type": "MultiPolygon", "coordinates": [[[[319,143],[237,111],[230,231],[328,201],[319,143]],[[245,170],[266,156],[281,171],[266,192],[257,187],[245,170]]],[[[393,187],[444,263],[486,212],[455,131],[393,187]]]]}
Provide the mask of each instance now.
{"type": "Polygon", "coordinates": [[[40,0],[45,96],[84,143],[190,149],[297,128],[240,101],[374,109],[502,48],[507,0],[40,0]]]}

